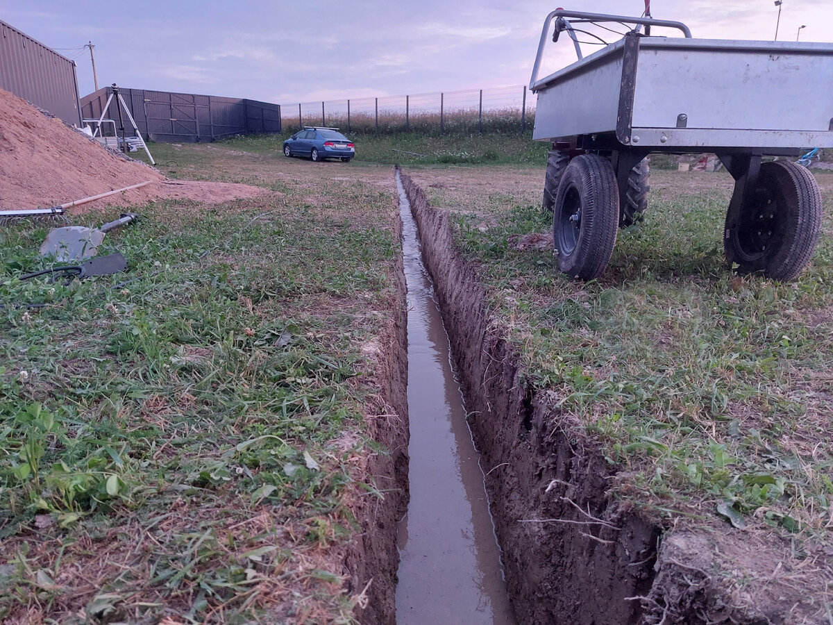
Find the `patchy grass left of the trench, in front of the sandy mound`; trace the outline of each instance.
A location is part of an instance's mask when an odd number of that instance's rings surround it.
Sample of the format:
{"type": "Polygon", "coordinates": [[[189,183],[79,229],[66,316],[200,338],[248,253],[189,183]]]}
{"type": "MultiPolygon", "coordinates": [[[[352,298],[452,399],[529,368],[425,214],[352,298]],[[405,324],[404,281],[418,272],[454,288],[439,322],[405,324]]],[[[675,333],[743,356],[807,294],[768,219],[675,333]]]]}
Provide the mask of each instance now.
{"type": "Polygon", "coordinates": [[[128,273],[82,282],[21,281],[48,225],[0,231],[3,622],[351,621],[397,241],[389,192],[340,191],[137,207],[128,273]]]}

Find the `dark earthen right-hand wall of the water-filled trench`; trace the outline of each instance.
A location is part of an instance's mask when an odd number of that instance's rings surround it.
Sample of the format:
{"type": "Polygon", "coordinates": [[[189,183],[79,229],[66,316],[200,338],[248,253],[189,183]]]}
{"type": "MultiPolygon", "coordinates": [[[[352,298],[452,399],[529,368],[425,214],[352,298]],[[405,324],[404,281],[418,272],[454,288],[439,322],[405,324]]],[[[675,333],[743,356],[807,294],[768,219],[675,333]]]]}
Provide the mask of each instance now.
{"type": "Polygon", "coordinates": [[[529,388],[476,273],[456,252],[446,213],[406,175],[402,183],[474,414],[518,622],[640,622],[642,603],[628,597],[651,589],[659,529],[607,498],[614,471],[599,446],[529,388]]]}

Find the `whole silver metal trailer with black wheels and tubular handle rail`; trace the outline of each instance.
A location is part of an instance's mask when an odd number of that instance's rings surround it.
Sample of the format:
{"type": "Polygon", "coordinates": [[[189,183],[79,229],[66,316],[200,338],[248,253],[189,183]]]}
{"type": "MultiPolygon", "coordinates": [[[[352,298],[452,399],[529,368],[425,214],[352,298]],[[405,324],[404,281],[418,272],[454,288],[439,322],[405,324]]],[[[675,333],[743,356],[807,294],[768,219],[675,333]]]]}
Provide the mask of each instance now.
{"type": "Polygon", "coordinates": [[[711,152],[735,178],[723,237],[729,263],[796,278],[816,248],[821,193],[806,168],[763,157],[833,147],[831,84],[828,43],[693,39],[679,22],[550,13],[530,89],[538,95],[533,138],[552,142],[543,203],[561,271],[584,280],[604,272],[617,228],[646,208],[649,153],[711,152]],[[578,60],[539,79],[553,22],[552,40],[566,32],[578,60]],[[633,30],[582,57],[579,23],[633,30]],[[651,27],[684,37],[651,36],[651,27]]]}

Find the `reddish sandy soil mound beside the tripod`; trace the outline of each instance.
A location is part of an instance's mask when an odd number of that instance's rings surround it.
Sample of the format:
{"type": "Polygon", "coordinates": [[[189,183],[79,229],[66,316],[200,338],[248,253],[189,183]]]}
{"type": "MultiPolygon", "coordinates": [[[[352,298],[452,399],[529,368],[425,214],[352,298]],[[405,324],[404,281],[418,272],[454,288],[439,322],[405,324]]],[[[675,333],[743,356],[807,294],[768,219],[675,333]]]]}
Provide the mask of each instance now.
{"type": "Polygon", "coordinates": [[[152,184],[76,210],[169,198],[219,203],[268,193],[244,184],[167,180],[0,89],[0,209],[57,206],[145,181],[152,184]]]}

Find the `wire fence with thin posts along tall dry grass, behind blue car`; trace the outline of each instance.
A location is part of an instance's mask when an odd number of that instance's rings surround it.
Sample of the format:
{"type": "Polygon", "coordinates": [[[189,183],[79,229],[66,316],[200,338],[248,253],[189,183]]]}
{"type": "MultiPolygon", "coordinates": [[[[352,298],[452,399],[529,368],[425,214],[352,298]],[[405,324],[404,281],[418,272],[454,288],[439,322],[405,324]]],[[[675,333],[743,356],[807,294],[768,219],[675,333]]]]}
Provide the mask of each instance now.
{"type": "Polygon", "coordinates": [[[535,118],[526,87],[282,104],[287,130],[331,126],[348,133],[523,133],[535,118]]]}

